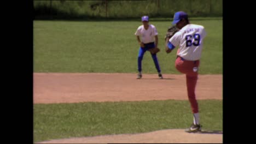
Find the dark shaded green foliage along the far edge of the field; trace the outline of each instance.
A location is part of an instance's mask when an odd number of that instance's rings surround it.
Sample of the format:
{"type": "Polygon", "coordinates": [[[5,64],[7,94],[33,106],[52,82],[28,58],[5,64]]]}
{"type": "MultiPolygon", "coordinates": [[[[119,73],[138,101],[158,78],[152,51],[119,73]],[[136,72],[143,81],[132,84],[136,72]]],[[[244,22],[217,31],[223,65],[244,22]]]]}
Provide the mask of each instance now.
{"type": "Polygon", "coordinates": [[[222,16],[223,11],[222,0],[33,1],[33,4],[35,19],[172,17],[180,10],[193,17],[209,17],[222,16]]]}

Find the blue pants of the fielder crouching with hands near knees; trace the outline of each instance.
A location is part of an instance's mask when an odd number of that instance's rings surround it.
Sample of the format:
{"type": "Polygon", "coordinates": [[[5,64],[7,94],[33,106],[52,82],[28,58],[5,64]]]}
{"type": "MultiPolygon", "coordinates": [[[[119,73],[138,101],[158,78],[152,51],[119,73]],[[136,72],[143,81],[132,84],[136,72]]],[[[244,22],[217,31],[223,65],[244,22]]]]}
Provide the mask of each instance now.
{"type": "MultiPolygon", "coordinates": [[[[148,43],[148,44],[144,44],[145,47],[139,47],[139,53],[138,53],[138,71],[141,72],[142,71],[142,59],[143,59],[143,56],[144,56],[144,53],[148,50],[148,49],[153,49],[155,47],[155,44],[154,43],[148,43]]],[[[152,58],[153,58],[153,61],[154,61],[154,64],[155,64],[155,68],[156,70],[158,70],[158,73],[161,72],[161,69],[160,69],[160,66],[159,66],[159,63],[158,63],[158,57],[156,57],[156,54],[152,54],[150,53],[152,58]]]]}

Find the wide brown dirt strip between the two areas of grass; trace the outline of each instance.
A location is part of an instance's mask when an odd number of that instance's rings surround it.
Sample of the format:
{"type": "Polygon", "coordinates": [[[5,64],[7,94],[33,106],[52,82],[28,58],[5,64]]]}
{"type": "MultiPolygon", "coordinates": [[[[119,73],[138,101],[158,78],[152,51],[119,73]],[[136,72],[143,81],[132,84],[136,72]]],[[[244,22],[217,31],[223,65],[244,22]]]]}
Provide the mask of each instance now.
{"type": "MultiPolygon", "coordinates": [[[[78,103],[85,101],[187,100],[185,75],[34,73],[33,101],[78,103]]],[[[197,99],[222,99],[222,75],[199,75],[197,99]]]]}

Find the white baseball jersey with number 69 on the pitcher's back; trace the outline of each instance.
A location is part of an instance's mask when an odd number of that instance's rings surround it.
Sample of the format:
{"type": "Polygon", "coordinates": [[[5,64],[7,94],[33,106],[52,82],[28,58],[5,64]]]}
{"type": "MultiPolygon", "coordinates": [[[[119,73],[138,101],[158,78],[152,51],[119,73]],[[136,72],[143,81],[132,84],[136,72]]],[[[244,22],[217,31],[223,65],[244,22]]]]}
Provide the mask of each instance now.
{"type": "Polygon", "coordinates": [[[196,61],[201,58],[205,28],[201,25],[188,24],[173,35],[169,40],[175,47],[179,46],[178,56],[188,61],[196,61]]]}

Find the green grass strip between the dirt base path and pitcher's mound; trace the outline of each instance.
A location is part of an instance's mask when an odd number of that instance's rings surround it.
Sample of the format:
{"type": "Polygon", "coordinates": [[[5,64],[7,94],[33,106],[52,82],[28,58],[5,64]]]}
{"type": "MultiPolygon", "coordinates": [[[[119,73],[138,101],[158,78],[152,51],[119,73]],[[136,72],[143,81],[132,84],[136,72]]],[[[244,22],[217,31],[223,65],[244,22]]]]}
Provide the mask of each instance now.
{"type": "MultiPolygon", "coordinates": [[[[198,103],[203,130],[222,131],[222,100],[198,103]]],[[[34,104],[33,112],[34,142],[185,129],[193,122],[187,100],[34,104]]]]}

